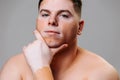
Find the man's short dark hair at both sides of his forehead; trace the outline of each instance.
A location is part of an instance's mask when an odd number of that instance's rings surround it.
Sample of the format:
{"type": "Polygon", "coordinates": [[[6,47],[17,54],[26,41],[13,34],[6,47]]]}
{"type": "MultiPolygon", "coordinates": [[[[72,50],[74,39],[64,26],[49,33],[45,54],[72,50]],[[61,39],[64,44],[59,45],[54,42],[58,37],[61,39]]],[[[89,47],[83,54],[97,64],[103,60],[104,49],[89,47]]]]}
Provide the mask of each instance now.
{"type": "MultiPolygon", "coordinates": [[[[39,0],[38,3],[38,9],[40,8],[41,2],[43,0],[39,0]]],[[[81,15],[81,10],[82,10],[82,1],[81,0],[71,0],[73,2],[73,6],[77,14],[80,16],[81,15]]]]}

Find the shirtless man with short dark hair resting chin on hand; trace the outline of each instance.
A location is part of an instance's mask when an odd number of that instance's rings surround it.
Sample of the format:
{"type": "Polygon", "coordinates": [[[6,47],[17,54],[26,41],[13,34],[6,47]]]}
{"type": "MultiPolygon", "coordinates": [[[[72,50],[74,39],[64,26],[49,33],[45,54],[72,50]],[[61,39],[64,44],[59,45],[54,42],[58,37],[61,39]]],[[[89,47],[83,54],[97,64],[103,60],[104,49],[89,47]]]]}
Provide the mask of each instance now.
{"type": "Polygon", "coordinates": [[[98,55],[77,45],[80,0],[40,0],[36,40],[3,67],[0,80],[119,80],[98,55]]]}

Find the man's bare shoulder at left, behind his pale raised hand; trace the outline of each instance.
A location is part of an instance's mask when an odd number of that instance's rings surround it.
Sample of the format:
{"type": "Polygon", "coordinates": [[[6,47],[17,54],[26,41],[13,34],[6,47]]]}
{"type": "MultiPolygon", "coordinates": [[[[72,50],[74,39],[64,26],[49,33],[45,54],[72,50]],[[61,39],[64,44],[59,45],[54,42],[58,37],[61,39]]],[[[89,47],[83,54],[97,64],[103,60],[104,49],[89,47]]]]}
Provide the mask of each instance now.
{"type": "Polygon", "coordinates": [[[28,68],[23,54],[11,57],[3,66],[0,74],[3,80],[21,80],[22,71],[28,68]],[[6,79],[7,78],[7,79],[6,79]]]}

